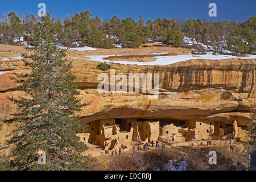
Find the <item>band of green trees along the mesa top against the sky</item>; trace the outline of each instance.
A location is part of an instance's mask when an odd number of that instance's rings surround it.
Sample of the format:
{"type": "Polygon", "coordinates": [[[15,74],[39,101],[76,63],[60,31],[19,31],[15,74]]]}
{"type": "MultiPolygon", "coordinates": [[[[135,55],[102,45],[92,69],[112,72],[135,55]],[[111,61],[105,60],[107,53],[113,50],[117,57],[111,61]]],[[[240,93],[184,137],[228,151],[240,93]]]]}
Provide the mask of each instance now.
{"type": "MultiPolygon", "coordinates": [[[[1,17],[0,43],[20,45],[20,37],[26,41],[34,36],[33,28],[39,22],[38,16],[23,15],[19,17],[14,12],[1,17]]],[[[54,18],[57,31],[57,41],[67,47],[96,47],[115,48],[115,44],[122,47],[138,48],[152,39],[173,47],[185,46],[184,36],[193,38],[193,47],[199,52],[213,51],[224,53],[225,49],[240,53],[256,52],[256,17],[245,22],[212,22],[205,19],[156,19],[143,20],[142,16],[135,21],[132,18],[101,20],[92,18],[89,11],[81,11],[66,18],[54,18]],[[203,43],[207,48],[203,48],[203,43]],[[211,47],[211,49],[210,49],[211,47]]]]}

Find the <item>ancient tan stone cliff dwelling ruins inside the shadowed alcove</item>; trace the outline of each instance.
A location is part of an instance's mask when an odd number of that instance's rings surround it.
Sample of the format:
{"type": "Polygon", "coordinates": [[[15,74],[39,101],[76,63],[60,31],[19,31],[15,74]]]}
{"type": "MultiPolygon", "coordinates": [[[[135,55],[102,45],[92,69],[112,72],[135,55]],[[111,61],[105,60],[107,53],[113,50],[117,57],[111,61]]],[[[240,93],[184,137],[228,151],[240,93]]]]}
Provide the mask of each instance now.
{"type": "Polygon", "coordinates": [[[139,118],[98,119],[85,123],[86,133],[77,133],[85,144],[93,144],[104,150],[105,154],[116,154],[119,147],[136,146],[137,143],[154,143],[156,140],[170,144],[195,140],[226,139],[246,133],[245,126],[217,123],[205,119],[187,121],[160,119],[159,121],[139,118]],[[174,137],[174,141],[172,138],[174,137]]]}

